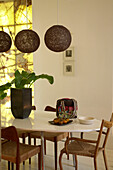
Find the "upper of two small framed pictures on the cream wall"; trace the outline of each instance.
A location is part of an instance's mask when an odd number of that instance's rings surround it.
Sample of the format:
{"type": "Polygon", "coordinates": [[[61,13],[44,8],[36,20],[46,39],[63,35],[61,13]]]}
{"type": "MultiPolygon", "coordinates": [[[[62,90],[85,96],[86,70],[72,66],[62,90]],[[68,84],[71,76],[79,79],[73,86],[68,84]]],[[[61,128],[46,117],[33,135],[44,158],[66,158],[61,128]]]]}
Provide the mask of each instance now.
{"type": "Polygon", "coordinates": [[[64,60],[74,60],[74,47],[68,48],[66,51],[64,51],[64,60]]]}

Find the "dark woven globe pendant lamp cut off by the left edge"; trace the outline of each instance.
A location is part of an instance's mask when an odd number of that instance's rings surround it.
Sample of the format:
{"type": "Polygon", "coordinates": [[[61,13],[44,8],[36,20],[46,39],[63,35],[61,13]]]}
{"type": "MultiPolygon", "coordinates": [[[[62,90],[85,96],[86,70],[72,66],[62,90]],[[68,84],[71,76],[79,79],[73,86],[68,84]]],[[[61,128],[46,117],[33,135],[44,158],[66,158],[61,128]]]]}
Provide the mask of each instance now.
{"type": "Polygon", "coordinates": [[[0,52],[6,52],[11,48],[11,37],[4,31],[0,31],[0,52]]]}

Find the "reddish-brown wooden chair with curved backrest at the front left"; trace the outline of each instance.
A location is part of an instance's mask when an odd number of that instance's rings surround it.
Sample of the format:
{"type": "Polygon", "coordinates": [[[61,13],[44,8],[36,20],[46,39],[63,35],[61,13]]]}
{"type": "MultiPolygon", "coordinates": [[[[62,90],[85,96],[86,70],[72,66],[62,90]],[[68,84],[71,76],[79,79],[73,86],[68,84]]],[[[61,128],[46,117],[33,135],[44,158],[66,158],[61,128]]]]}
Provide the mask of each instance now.
{"type": "Polygon", "coordinates": [[[31,146],[19,143],[17,130],[14,126],[10,126],[1,130],[1,137],[5,140],[2,142],[1,158],[7,160],[8,170],[10,170],[10,162],[16,164],[16,170],[19,170],[21,162],[38,154],[38,169],[41,168],[41,146],[31,146]],[[6,141],[7,140],[7,141],[6,141]]]}

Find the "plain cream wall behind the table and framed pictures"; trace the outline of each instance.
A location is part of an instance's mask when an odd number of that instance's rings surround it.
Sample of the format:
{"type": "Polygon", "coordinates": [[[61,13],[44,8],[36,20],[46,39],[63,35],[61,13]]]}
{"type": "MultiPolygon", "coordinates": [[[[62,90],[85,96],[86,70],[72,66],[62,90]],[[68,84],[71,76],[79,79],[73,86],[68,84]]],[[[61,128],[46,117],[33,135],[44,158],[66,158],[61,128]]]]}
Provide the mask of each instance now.
{"type": "Polygon", "coordinates": [[[112,112],[113,0],[59,0],[59,24],[72,33],[75,76],[63,75],[63,53],[46,48],[44,34],[57,23],[57,0],[33,0],[33,29],[41,45],[34,53],[34,70],[55,78],[35,83],[35,105],[56,105],[58,98],[78,101],[78,114],[110,118],[112,112]]]}

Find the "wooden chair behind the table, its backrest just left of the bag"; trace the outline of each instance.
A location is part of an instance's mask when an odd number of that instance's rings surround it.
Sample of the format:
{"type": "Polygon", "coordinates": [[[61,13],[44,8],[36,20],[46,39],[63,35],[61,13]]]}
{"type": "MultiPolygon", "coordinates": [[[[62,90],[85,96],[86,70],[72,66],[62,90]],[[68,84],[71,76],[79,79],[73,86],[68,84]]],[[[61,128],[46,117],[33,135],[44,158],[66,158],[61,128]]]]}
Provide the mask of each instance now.
{"type": "MultiPolygon", "coordinates": [[[[56,109],[51,106],[46,106],[45,111],[56,112],[56,109]]],[[[34,138],[34,145],[36,145],[36,139],[41,138],[40,132],[29,133],[29,144],[31,144],[31,138],[34,138]]],[[[46,140],[54,142],[54,150],[55,150],[55,170],[57,170],[57,142],[61,141],[64,138],[69,138],[69,133],[52,133],[52,132],[44,132],[44,147],[46,154],[46,140]]],[[[69,156],[68,156],[69,159],[69,156]]]]}

